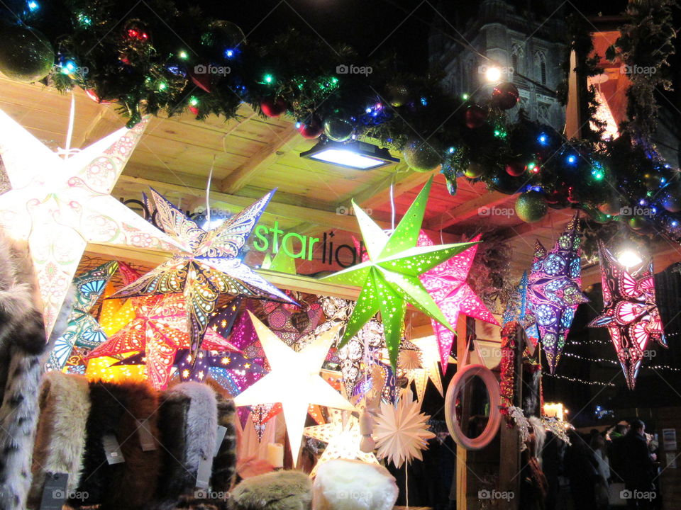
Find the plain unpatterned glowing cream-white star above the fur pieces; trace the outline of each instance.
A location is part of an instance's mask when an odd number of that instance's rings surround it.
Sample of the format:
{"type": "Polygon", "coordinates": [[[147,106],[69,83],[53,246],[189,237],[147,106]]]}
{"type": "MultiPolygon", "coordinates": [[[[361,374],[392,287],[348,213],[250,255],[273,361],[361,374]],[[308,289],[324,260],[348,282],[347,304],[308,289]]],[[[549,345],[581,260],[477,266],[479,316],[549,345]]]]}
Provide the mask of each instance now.
{"type": "Polygon", "coordinates": [[[272,371],[237,395],[234,404],[248,406],[280,402],[284,408],[284,419],[295,465],[309,404],[350,411],[355,409],[353,404],[344,399],[319,375],[336,331],[333,329],[327,331],[302,351],[296,352],[267,329],[253,313],[249,314],[272,371]]]}

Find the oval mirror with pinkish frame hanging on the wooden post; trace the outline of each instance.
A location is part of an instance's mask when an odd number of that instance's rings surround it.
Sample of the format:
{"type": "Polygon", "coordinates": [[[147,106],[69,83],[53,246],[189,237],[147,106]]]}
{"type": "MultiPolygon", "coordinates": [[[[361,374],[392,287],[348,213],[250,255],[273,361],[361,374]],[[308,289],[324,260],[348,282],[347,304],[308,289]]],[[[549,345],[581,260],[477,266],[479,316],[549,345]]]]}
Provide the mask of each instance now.
{"type": "Polygon", "coordinates": [[[484,365],[467,365],[459,370],[447,389],[445,417],[450,434],[467,450],[485,448],[497,435],[499,382],[484,365]]]}

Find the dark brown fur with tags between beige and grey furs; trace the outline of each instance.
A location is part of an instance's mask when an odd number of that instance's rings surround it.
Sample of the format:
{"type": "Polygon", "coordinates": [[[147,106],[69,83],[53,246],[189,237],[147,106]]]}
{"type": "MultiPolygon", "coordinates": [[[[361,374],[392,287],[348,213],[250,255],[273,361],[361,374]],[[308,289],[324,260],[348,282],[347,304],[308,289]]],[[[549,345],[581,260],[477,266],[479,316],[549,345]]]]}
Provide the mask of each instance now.
{"type": "Polygon", "coordinates": [[[147,420],[153,436],[157,429],[157,392],[146,383],[90,384],[91,410],[83,474],[78,492],[87,497],[71,506],[100,504],[100,510],[147,509],[155,493],[160,467],[159,449],[143,451],[137,420],[147,420]],[[109,465],[103,438],[113,433],[121,445],[124,463],[109,465]]]}

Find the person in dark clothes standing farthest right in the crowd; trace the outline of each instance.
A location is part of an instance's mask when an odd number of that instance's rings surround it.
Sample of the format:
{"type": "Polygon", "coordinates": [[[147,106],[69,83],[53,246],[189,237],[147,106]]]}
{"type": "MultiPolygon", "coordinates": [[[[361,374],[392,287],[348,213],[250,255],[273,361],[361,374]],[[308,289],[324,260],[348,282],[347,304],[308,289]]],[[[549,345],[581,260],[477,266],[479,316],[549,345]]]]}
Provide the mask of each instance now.
{"type": "Polygon", "coordinates": [[[646,424],[631,421],[631,429],[621,441],[622,470],[626,502],[630,509],[651,509],[657,494],[653,487],[655,472],[646,439],[646,424]]]}

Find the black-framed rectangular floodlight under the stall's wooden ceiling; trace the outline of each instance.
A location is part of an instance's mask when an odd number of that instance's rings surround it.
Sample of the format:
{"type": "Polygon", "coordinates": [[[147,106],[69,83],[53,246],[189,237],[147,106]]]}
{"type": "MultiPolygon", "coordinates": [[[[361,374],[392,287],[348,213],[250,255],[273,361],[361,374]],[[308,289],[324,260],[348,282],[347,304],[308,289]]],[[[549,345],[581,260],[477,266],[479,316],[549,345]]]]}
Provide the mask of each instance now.
{"type": "Polygon", "coordinates": [[[399,162],[390,155],[388,149],[365,142],[319,142],[309,151],[301,152],[300,157],[345,166],[355,170],[373,170],[399,162]]]}

